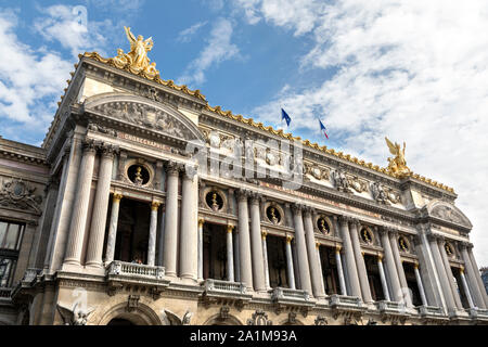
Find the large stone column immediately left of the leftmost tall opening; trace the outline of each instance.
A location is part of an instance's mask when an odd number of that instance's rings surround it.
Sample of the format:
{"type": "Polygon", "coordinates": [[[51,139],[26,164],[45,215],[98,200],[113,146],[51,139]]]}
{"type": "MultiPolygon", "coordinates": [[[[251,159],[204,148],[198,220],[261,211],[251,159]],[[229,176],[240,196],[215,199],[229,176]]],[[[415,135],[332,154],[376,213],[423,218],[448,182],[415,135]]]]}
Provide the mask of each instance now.
{"type": "Polygon", "coordinates": [[[112,145],[101,147],[99,181],[91,216],[90,239],[87,249],[87,267],[102,268],[103,241],[105,239],[106,215],[111,195],[112,166],[115,149],[112,145]]]}

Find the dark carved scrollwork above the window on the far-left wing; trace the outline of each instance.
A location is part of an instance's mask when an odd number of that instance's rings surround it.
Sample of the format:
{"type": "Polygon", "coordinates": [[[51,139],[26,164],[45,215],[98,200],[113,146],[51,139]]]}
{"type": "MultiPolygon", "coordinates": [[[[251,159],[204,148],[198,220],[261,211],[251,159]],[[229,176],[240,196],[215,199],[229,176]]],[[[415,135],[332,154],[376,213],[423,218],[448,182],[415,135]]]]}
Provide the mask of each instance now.
{"type": "Polygon", "coordinates": [[[27,184],[22,179],[4,181],[0,190],[0,206],[11,206],[40,214],[42,196],[34,194],[35,191],[36,187],[27,184]]]}

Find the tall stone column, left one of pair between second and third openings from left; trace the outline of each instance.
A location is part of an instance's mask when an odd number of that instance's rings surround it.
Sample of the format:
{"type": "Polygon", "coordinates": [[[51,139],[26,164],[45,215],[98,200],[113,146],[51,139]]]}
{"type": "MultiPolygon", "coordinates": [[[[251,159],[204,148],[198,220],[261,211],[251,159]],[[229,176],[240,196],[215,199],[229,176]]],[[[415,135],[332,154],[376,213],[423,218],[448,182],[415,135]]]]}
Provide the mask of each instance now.
{"type": "Polygon", "coordinates": [[[253,271],[251,260],[249,217],[247,210],[247,192],[240,190],[237,194],[239,217],[239,262],[241,266],[241,282],[253,291],[253,271]]]}

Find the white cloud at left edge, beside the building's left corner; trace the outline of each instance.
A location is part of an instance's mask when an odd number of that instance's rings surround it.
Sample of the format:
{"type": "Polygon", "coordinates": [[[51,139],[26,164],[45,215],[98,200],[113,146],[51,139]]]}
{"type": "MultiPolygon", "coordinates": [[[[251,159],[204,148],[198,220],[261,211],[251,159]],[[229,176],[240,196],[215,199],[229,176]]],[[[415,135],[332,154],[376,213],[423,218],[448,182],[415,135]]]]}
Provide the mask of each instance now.
{"type": "MultiPolygon", "coordinates": [[[[0,13],[0,118],[43,131],[52,117],[44,98],[62,93],[73,65],[56,52],[22,43],[14,33],[16,25],[15,12],[0,13]]],[[[2,124],[8,128],[5,120],[2,124]]]]}

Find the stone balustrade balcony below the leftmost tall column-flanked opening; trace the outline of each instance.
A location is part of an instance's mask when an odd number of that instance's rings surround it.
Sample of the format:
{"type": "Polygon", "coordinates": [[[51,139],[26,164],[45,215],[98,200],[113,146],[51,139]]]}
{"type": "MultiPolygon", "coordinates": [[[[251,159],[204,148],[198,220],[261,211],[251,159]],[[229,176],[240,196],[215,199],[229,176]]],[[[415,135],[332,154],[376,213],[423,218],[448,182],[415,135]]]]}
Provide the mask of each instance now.
{"type": "Polygon", "coordinates": [[[114,260],[107,266],[106,281],[112,294],[124,286],[150,287],[153,292],[160,293],[170,282],[165,279],[164,267],[119,260],[114,260]]]}

